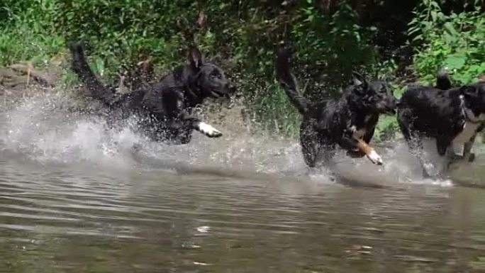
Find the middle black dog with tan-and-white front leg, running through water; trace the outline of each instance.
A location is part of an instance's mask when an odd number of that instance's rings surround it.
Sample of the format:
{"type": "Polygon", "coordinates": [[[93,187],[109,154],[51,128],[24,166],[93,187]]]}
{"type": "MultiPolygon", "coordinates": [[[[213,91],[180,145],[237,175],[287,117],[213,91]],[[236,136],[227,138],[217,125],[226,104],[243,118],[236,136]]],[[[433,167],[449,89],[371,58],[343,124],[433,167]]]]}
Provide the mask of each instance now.
{"type": "Polygon", "coordinates": [[[367,155],[373,163],[383,164],[368,144],[379,115],[394,113],[396,108],[396,98],[386,82],[367,82],[354,72],[354,84],[345,89],[340,99],[313,103],[299,94],[289,57],[289,50],[277,52],[276,72],[289,99],[303,116],[300,143],[306,164],[328,165],[335,155],[335,145],[347,150],[351,157],[367,155]]]}

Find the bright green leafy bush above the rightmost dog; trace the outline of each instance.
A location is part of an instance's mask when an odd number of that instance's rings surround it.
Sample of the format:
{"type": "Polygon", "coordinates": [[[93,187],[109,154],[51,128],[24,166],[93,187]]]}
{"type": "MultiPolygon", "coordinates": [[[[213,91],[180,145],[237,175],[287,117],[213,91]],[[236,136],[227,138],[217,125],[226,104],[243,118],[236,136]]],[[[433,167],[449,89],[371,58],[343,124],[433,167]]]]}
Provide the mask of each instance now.
{"type": "Polygon", "coordinates": [[[476,82],[485,72],[485,16],[478,3],[472,11],[445,14],[437,1],[425,0],[410,23],[417,45],[414,68],[431,83],[438,69],[446,69],[461,84],[476,82]]]}

